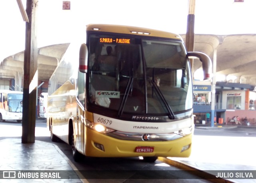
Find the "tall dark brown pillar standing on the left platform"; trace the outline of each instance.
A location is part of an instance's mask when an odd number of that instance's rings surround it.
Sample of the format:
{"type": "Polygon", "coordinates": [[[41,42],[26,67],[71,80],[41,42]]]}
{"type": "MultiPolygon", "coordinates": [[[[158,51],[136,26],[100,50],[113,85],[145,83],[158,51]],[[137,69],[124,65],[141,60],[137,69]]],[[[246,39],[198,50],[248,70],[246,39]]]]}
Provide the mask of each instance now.
{"type": "Polygon", "coordinates": [[[37,41],[36,41],[36,9],[38,0],[27,0],[26,39],[24,51],[24,79],[23,79],[23,111],[22,111],[22,143],[35,142],[36,101],[37,101],[37,41]]]}

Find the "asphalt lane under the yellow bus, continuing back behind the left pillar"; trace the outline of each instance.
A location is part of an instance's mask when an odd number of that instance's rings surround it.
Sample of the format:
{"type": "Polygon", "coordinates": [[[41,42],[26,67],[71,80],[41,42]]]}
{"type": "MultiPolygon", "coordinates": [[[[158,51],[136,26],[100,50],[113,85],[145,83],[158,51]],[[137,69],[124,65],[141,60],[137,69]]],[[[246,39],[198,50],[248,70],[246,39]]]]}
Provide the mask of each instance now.
{"type": "MultiPolygon", "coordinates": [[[[22,125],[16,122],[0,122],[0,140],[4,138],[20,138],[22,125]]],[[[105,178],[106,182],[170,182],[170,177],[173,177],[172,182],[180,183],[186,182],[188,179],[184,177],[190,176],[187,172],[180,171],[179,168],[167,165],[162,161],[156,161],[154,163],[144,162],[139,157],[132,158],[84,158],[80,163],[73,160],[71,147],[64,142],[54,143],[50,141],[50,133],[46,129],[46,121],[37,120],[36,121],[36,140],[41,140],[44,142],[50,142],[56,144],[62,152],[70,159],[70,162],[84,175],[88,177],[88,172],[90,176],[95,175],[97,178],[105,178]],[[86,170],[86,171],[84,171],[86,170]],[[117,174],[117,172],[119,172],[117,174]],[[118,179],[116,175],[125,175],[130,179],[118,179]],[[153,177],[152,180],[149,179],[153,177]],[[167,177],[166,179],[158,179],[158,177],[167,177]],[[110,179],[115,178],[115,179],[110,179]],[[144,181],[139,181],[143,179],[144,181]]],[[[96,178],[96,177],[91,178],[96,178]]],[[[193,175],[193,179],[190,182],[206,183],[210,182],[208,180],[201,179],[200,177],[193,175]]],[[[90,183],[98,182],[98,180],[90,179],[90,183]]]]}

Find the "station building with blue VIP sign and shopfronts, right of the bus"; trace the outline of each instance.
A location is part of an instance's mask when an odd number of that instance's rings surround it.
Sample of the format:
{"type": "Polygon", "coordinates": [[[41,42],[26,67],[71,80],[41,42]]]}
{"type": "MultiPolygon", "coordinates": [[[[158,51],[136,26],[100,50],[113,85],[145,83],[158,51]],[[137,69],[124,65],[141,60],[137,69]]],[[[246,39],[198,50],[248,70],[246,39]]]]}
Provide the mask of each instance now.
{"type": "MultiPolygon", "coordinates": [[[[211,114],[212,85],[210,81],[194,81],[194,122],[205,124],[206,113],[211,114]]],[[[239,116],[242,125],[256,126],[256,87],[242,83],[216,82],[214,123],[236,125],[232,119],[239,116]]],[[[207,124],[206,124],[207,125],[207,124]]]]}

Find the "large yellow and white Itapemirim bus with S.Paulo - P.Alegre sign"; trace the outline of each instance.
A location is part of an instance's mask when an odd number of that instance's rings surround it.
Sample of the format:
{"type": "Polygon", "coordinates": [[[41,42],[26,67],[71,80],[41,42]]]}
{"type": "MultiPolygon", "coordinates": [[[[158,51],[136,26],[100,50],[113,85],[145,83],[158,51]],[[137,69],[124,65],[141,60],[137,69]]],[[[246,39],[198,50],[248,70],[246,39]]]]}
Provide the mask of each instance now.
{"type": "Polygon", "coordinates": [[[70,44],[49,80],[47,125],[52,141],[88,157],[188,157],[193,120],[187,52],[174,33],[90,24],[86,40],[70,44]]]}

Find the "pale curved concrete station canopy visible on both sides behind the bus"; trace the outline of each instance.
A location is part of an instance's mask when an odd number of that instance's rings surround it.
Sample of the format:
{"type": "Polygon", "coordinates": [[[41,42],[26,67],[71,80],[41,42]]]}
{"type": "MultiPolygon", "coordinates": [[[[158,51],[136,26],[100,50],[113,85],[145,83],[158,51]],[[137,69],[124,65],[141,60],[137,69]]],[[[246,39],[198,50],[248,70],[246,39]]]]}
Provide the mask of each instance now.
{"type": "MultiPolygon", "coordinates": [[[[181,34],[184,42],[186,35],[181,34]]],[[[69,43],[38,48],[38,80],[48,81],[69,43]]],[[[236,76],[228,82],[256,85],[256,34],[209,35],[195,34],[194,51],[206,53],[213,60],[216,51],[216,75],[236,76]]],[[[23,76],[24,51],[6,55],[0,61],[0,78],[19,79],[23,76]]],[[[193,71],[202,67],[195,59],[193,71]]]]}

